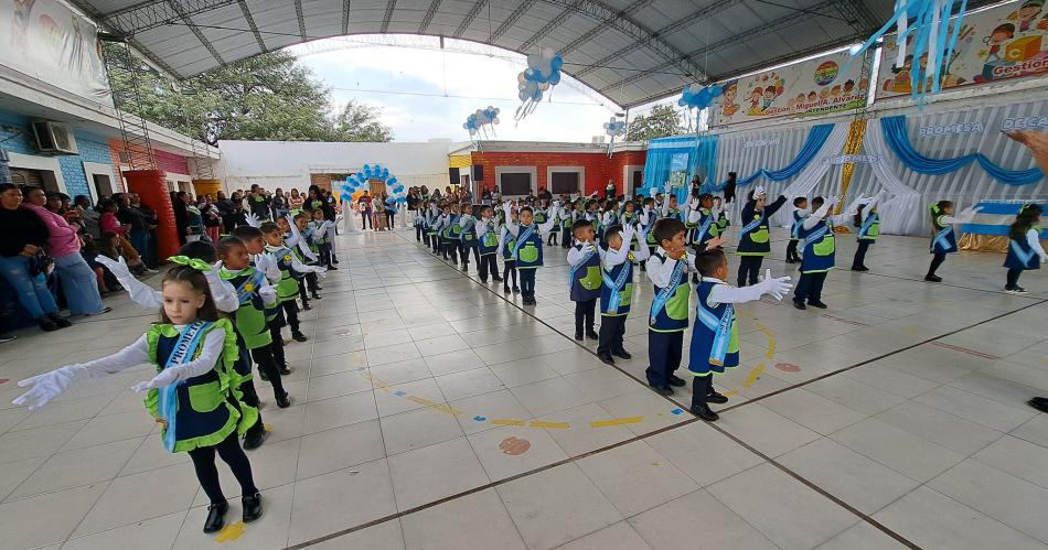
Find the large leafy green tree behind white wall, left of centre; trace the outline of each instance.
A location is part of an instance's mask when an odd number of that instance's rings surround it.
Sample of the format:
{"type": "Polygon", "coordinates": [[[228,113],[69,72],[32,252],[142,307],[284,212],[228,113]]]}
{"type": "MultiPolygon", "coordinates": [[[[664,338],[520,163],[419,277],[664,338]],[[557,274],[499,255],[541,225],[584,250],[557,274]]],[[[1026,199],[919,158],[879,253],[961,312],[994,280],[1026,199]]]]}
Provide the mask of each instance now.
{"type": "Polygon", "coordinates": [[[335,112],[330,90],[295,56],[270,52],[172,82],[106,44],[114,103],[213,145],[218,140],[389,141],[377,112],[350,101],[335,112]],[[137,80],[137,90],[136,90],[137,80]]]}

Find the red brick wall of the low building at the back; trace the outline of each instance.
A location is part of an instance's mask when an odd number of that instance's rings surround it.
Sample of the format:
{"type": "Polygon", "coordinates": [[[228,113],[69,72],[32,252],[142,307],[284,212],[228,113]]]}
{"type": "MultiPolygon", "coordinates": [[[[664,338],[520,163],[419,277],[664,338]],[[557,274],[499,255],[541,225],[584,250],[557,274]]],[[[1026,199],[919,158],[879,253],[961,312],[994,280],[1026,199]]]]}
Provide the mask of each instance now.
{"type": "Polygon", "coordinates": [[[644,151],[623,151],[608,158],[607,153],[535,153],[535,152],[473,152],[473,164],[484,166],[484,179],[478,187],[494,186],[496,166],[535,166],[538,181],[535,190],[547,187],[546,169],[548,166],[582,166],[586,169],[586,181],[582,182],[584,194],[595,191],[603,192],[610,179],[623,193],[622,170],[630,164],[644,165],[644,151]]]}

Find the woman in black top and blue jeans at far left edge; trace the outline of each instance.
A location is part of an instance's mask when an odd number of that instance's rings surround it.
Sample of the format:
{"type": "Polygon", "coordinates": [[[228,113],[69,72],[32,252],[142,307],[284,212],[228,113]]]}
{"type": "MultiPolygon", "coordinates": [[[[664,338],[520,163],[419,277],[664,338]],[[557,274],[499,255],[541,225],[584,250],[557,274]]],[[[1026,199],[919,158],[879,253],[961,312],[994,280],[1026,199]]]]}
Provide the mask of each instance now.
{"type": "Polygon", "coordinates": [[[31,211],[20,208],[22,190],[0,184],[0,276],[18,292],[19,302],[44,331],[69,326],[47,290],[47,226],[31,211]]]}

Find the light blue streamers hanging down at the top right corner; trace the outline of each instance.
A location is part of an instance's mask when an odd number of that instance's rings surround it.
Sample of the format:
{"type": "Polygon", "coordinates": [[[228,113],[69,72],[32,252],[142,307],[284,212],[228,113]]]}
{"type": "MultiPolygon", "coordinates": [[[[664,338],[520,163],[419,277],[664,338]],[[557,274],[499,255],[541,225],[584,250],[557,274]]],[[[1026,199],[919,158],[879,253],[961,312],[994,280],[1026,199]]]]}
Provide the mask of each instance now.
{"type": "MultiPolygon", "coordinates": [[[[909,69],[910,94],[923,104],[927,94],[938,94],[942,88],[942,76],[953,61],[966,8],[966,0],[896,0],[895,12],[888,22],[860,47],[852,48],[852,61],[895,26],[896,61],[892,66],[906,67],[909,64],[912,67],[912,60],[924,58],[923,66],[918,71],[909,69]],[[954,8],[956,19],[951,24],[950,17],[954,8]],[[926,79],[931,82],[930,88],[921,85],[926,79]]],[[[844,68],[847,71],[847,67],[844,68]]]]}

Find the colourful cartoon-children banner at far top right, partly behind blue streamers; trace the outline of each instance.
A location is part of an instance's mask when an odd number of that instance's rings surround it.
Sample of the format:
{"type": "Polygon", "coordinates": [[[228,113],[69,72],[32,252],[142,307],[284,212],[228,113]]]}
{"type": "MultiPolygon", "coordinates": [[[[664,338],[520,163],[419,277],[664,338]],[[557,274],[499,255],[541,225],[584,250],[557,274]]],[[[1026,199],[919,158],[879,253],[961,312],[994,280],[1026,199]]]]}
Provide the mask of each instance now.
{"type": "MultiPolygon", "coordinates": [[[[953,34],[953,23],[950,33],[953,34]]],[[[923,72],[928,56],[917,60],[923,72]]],[[[908,96],[912,91],[913,56],[899,60],[895,35],[885,37],[881,50],[877,98],[908,96]]],[[[969,13],[961,21],[958,42],[949,60],[943,60],[942,89],[988,84],[1048,74],[1048,12],[1045,0],[1019,0],[993,9],[969,13]]],[[[931,85],[931,78],[918,83],[931,85]]]]}

